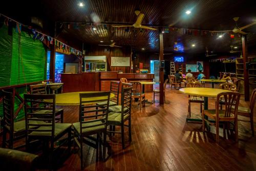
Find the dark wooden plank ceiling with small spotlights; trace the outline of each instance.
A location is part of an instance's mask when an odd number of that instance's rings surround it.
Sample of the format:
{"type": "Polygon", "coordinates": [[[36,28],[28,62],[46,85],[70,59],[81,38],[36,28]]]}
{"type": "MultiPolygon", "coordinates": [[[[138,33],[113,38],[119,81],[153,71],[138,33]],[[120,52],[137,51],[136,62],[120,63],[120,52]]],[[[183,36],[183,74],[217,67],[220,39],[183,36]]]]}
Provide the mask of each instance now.
{"type": "MultiPolygon", "coordinates": [[[[8,9],[10,6],[7,5],[4,10],[7,14],[14,13],[15,9],[22,5],[25,12],[12,15],[39,16],[49,22],[58,22],[58,27],[64,23],[60,35],[72,37],[74,41],[110,45],[110,40],[114,39],[118,46],[132,46],[135,50],[145,48],[146,51],[158,51],[158,31],[141,32],[133,28],[129,31],[125,30],[126,28],[114,30],[111,27],[118,24],[134,24],[137,19],[134,13],[136,8],[145,14],[142,24],[155,28],[172,26],[185,29],[232,30],[235,26],[232,18],[235,16],[240,16],[238,26],[244,26],[256,19],[253,1],[245,0],[84,0],[85,6],[82,8],[78,6],[79,2],[26,1],[12,4],[12,9],[8,9]],[[189,16],[185,15],[187,9],[192,11],[189,16]],[[65,26],[69,23],[71,27],[68,29],[65,26]],[[74,29],[73,23],[80,23],[79,28],[74,29]],[[93,23],[97,30],[92,30],[90,23],[93,23]],[[98,23],[104,25],[97,25],[98,23]]],[[[256,26],[245,31],[256,33],[256,26]]],[[[248,40],[249,45],[255,45],[256,35],[249,34],[248,40]]],[[[164,33],[164,52],[173,52],[175,41],[185,53],[204,53],[205,47],[217,53],[229,52],[230,45],[241,45],[241,37],[238,35],[235,35],[235,38],[225,35],[218,39],[217,35],[195,36],[170,31],[164,33]],[[192,48],[191,44],[196,46],[192,48]]]]}

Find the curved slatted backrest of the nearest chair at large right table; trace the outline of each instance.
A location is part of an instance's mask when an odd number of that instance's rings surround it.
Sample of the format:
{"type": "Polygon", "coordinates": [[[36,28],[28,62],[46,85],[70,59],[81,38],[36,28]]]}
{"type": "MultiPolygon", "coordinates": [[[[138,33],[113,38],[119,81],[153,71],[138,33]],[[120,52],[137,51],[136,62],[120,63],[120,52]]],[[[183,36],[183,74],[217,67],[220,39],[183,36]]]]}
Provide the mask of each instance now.
{"type": "MultiPolygon", "coordinates": [[[[223,92],[217,95],[217,104],[220,101],[225,105],[225,114],[223,117],[230,117],[233,114],[234,117],[237,117],[238,105],[241,94],[238,92],[223,92]]],[[[216,116],[219,117],[219,105],[217,105],[216,116]]]]}

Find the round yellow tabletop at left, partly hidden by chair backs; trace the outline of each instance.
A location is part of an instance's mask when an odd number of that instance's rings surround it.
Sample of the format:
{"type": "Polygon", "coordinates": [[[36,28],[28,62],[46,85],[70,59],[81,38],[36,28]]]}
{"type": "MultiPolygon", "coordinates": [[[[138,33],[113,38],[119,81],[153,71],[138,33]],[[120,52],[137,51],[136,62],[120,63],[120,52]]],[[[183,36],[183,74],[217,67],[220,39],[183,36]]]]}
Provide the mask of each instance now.
{"type": "MultiPolygon", "coordinates": [[[[55,103],[56,105],[79,105],[80,104],[80,93],[93,93],[93,92],[72,92],[72,93],[61,93],[56,94],[55,103]]],[[[114,98],[115,94],[110,94],[110,99],[114,98]]],[[[87,98],[83,98],[83,100],[87,100],[87,98]]],[[[97,100],[96,97],[88,98],[89,100],[97,100]]]]}

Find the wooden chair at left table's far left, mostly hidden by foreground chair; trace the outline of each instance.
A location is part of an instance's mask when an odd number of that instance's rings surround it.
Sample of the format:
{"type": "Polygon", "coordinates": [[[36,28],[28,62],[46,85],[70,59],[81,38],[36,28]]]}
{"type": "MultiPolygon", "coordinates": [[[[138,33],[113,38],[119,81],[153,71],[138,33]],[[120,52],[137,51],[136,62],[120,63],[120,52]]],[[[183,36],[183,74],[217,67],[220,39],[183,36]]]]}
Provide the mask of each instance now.
{"type": "MultiPolygon", "coordinates": [[[[30,94],[47,94],[46,83],[30,85],[30,94]]],[[[44,104],[39,104],[37,102],[34,102],[32,104],[33,104],[33,106],[44,105],[44,104]]],[[[36,112],[36,111],[34,111],[34,112],[36,112]]],[[[41,110],[37,111],[37,113],[40,113],[40,112],[44,113],[46,111],[41,111],[41,110]]],[[[56,113],[56,116],[60,116],[60,118],[55,118],[56,122],[63,123],[64,110],[56,108],[55,113],[56,113]]]]}

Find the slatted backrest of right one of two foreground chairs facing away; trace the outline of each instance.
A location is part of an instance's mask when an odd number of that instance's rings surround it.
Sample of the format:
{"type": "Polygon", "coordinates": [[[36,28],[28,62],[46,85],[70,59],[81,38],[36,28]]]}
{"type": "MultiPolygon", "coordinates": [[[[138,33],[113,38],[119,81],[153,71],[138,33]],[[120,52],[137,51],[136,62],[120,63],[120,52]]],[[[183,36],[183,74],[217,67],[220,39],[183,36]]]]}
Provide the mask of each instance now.
{"type": "Polygon", "coordinates": [[[102,126],[106,129],[110,102],[109,92],[80,93],[79,122],[80,134],[82,129],[90,129],[95,126],[102,126]],[[84,100],[84,98],[90,100],[84,100]],[[98,104],[107,101],[106,104],[98,104]],[[104,107],[104,108],[103,108],[104,107]],[[93,124],[94,123],[94,124],[93,124]]]}

